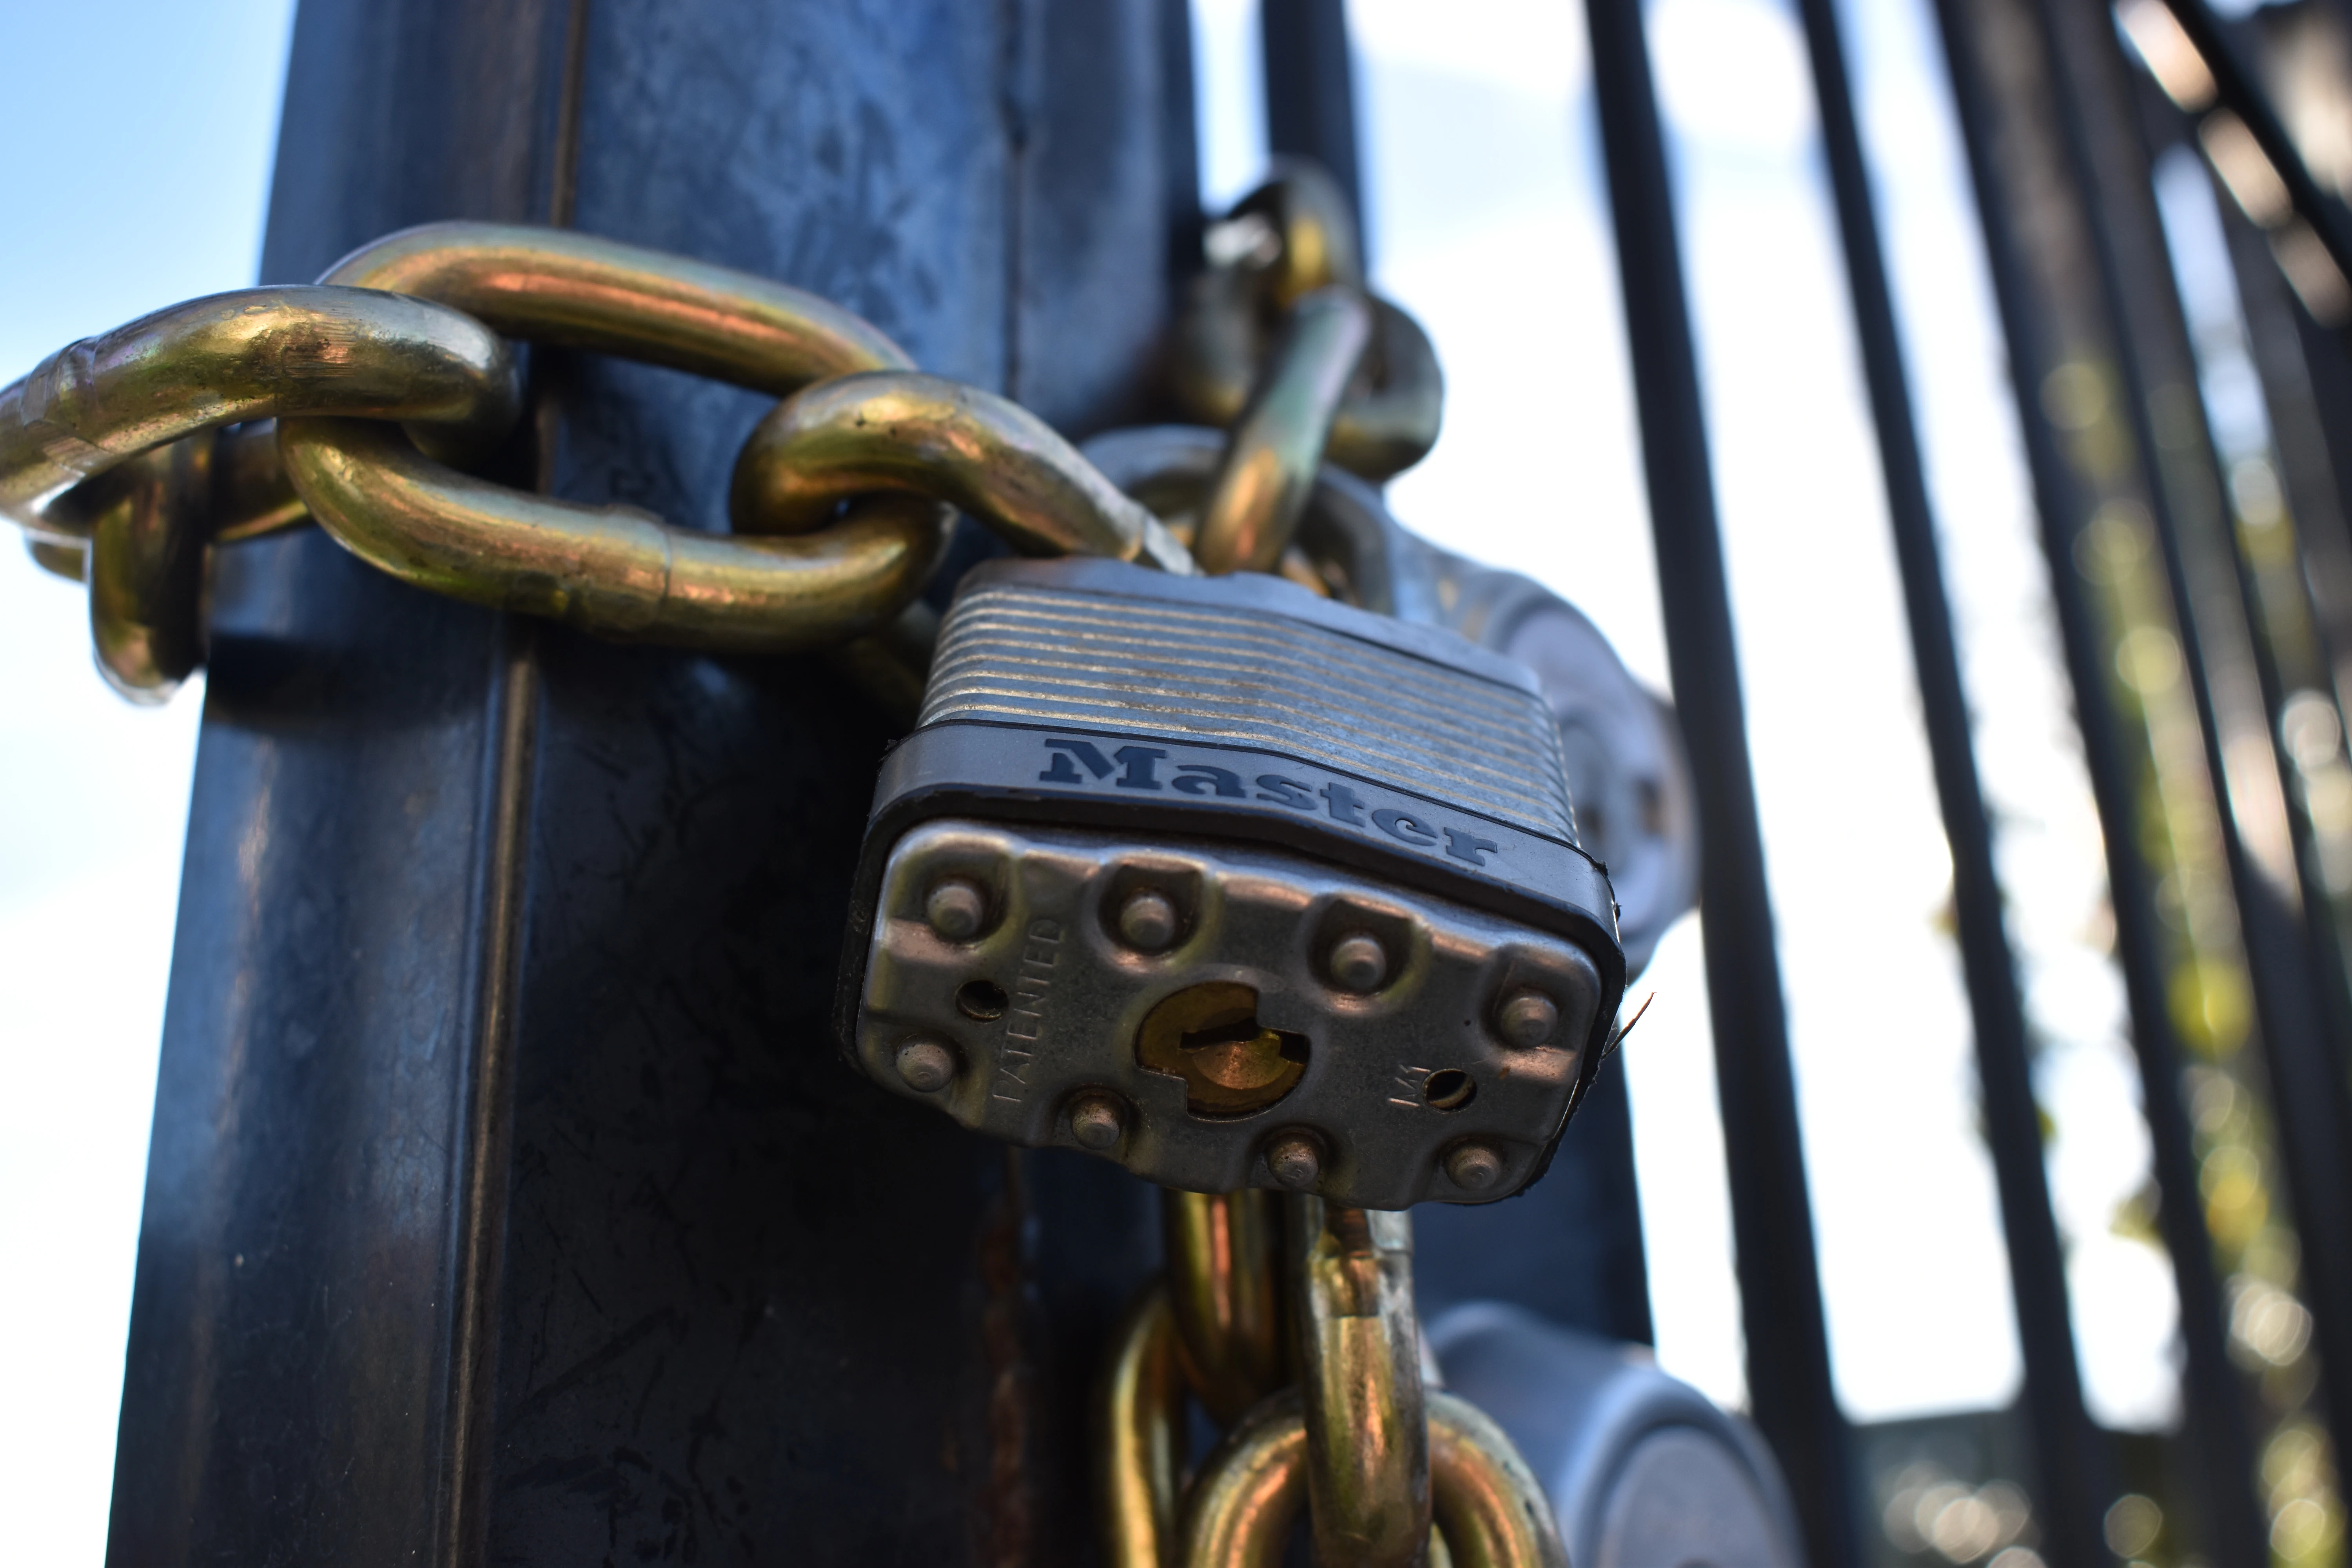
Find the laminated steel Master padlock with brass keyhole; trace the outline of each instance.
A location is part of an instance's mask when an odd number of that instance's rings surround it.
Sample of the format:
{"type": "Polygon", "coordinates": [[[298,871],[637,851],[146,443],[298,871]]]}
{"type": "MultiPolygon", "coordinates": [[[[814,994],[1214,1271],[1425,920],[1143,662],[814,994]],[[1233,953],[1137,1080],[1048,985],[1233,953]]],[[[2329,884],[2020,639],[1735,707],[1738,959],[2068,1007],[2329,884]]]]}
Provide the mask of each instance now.
{"type": "Polygon", "coordinates": [[[1524,668],[1272,576],[988,562],[882,764],[837,1020],[1009,1143],[1406,1208],[1543,1173],[1623,980],[1524,668]]]}

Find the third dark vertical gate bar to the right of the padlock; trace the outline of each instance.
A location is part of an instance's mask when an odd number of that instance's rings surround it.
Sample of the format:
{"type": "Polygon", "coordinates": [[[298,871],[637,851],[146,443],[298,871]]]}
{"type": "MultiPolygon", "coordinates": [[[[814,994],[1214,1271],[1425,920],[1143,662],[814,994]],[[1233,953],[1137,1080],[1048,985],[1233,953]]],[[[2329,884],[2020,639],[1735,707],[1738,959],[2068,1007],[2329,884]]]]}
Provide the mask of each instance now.
{"type": "Polygon", "coordinates": [[[2180,1098],[2183,1041],[2169,1009],[2154,886],[2138,849],[2140,813],[2124,750],[2122,715],[2107,693],[2107,661],[2100,654],[2086,588],[2074,569],[2074,548],[2089,522],[2093,496],[2077,487],[2058,449],[2058,433],[2042,409],[2042,381],[2060,364],[2065,348],[2058,306],[2044,299],[2034,284],[2023,228],[2030,221],[2032,202],[2049,200],[2046,188],[2027,188],[2027,167],[2039,167],[2046,176],[2058,158],[2049,148],[2046,127],[2027,122],[2016,94],[2011,101],[1999,101],[1987,75],[1987,56],[2018,68],[2018,31],[2030,24],[2016,9],[1999,19],[1985,16],[1983,0],[1938,0],[1936,12],[2009,346],[2018,428],[2042,515],[2051,599],[2058,609],[2060,642],[2074,689],[2084,764],[2105,837],[2114,952],[2124,971],[2131,1044],[2140,1063],[2140,1100],[2161,1194],[2157,1220],[2180,1295],[2180,1335],[2187,1352],[2185,1406],[2190,1413],[2185,1441],[2199,1460],[2187,1469],[2204,1481],[2199,1500],[2206,1507],[2211,1535],[2206,1544],[2213,1559],[2223,1568],[2260,1568],[2270,1561],[2267,1526],[2253,1495],[2253,1441],[2244,1389],[2223,1335],[2220,1281],[2213,1272],[2197,1157],[2187,1107],[2180,1098]]]}

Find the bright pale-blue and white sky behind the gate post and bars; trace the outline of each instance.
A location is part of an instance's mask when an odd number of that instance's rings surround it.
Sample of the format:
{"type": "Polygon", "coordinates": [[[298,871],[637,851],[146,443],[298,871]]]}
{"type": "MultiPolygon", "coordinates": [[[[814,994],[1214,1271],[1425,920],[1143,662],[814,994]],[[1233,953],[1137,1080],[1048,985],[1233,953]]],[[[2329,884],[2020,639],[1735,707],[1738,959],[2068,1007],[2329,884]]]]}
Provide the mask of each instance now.
{"type": "MultiPolygon", "coordinates": [[[[289,0],[0,0],[16,212],[0,381],[252,282],[289,0]],[[103,106],[89,61],[106,61],[103,106]],[[68,66],[71,61],[71,66],[68,66]],[[92,172],[106,179],[92,179],[92,172]]],[[[1430,538],[1550,583],[1668,691],[1583,21],[1559,0],[1352,0],[1376,287],[1430,329],[1446,433],[1390,487],[1430,538]]],[[[2006,1403],[2018,1347],[1907,637],[1811,85],[1778,0],[1653,0],[1837,1392],[1856,1420],[2006,1403]],[[1825,607],[1832,607],[1825,614],[1825,607]]],[[[2098,830],[1926,0],[1849,5],[1931,494],[2004,823],[2077,1342],[2103,1420],[2173,1418],[2098,830]]],[[[1200,0],[1204,197],[1263,167],[1249,0],[1200,0]]],[[[103,1554],[122,1335],[202,682],[129,708],[82,595],[0,550],[0,1474],[35,1561],[103,1554]],[[26,1530],[31,1535],[26,1535],[26,1530]]],[[[1658,1359],[1745,1401],[1703,933],[1628,1041],[1658,1359]]]]}

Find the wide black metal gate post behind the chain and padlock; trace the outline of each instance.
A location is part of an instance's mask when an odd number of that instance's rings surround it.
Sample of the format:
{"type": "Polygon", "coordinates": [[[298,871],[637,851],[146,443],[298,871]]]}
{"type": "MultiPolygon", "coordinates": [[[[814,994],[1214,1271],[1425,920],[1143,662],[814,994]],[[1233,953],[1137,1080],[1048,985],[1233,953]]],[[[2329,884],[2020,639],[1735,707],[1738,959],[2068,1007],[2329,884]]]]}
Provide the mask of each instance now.
{"type": "MultiPolygon", "coordinates": [[[[572,223],[1143,409],[1192,190],[1164,0],[308,0],[263,275],[572,223]]],[[[539,355],[548,489],[722,527],[757,397],[539,355]]],[[[308,531],[221,552],[115,1568],[1058,1561],[1152,1260],[1094,1161],[826,1030],[882,719],[308,531]],[[1047,1265],[1037,1269],[1037,1260],[1047,1265]],[[1042,1284],[1040,1284],[1042,1281],[1042,1284]]]]}

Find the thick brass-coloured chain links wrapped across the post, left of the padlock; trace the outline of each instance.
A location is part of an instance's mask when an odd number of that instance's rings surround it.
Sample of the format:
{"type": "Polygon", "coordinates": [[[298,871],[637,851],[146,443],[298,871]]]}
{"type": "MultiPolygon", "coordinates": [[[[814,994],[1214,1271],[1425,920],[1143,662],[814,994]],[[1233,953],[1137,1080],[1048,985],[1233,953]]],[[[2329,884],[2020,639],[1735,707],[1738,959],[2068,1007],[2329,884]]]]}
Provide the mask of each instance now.
{"type": "Polygon", "coordinates": [[[1044,421],[917,374],[870,322],[567,230],[412,228],[320,284],[174,306],[0,390],[0,510],[42,564],[89,581],[99,665],[143,701],[202,656],[205,550],[303,517],[449,597],[616,639],[793,651],[889,628],[946,545],[941,503],[1023,552],[1192,569],[1044,421]],[[736,463],[734,534],[466,473],[522,404],[506,339],[781,395],[736,463]]]}

